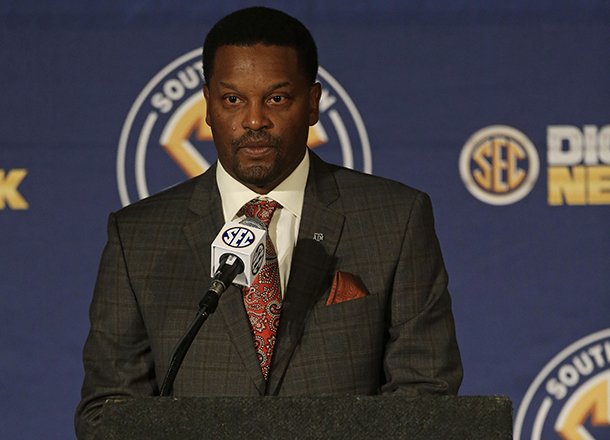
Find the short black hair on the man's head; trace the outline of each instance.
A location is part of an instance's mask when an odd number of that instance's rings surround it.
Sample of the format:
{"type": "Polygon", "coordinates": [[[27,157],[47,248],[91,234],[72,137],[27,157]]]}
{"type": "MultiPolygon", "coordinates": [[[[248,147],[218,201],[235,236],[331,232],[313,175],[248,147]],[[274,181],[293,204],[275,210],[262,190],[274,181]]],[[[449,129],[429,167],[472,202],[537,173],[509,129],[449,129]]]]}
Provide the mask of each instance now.
{"type": "Polygon", "coordinates": [[[318,74],[318,50],[303,23],[277,9],[255,6],[235,11],[210,30],[203,43],[203,76],[209,83],[214,71],[214,57],[221,46],[288,46],[296,50],[306,78],[315,83],[318,74]]]}

